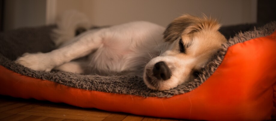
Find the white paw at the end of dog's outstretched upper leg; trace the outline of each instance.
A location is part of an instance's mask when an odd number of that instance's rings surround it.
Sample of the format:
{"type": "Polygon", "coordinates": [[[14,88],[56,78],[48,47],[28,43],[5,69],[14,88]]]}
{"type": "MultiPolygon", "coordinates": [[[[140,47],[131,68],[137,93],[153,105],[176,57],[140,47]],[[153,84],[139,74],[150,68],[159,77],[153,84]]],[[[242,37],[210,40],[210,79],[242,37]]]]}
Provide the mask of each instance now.
{"type": "Polygon", "coordinates": [[[49,72],[54,68],[49,56],[41,52],[35,54],[25,53],[22,57],[17,58],[15,63],[36,71],[49,72]]]}

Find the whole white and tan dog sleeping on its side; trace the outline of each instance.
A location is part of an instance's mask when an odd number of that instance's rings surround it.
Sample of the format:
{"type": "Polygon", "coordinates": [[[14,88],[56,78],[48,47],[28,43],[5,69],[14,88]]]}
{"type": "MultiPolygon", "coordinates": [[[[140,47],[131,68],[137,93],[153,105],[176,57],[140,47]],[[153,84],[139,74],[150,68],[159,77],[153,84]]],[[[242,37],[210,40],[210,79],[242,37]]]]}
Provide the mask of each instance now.
{"type": "Polygon", "coordinates": [[[182,15],[167,28],[144,21],[90,27],[84,14],[64,13],[53,31],[58,48],[48,53],[25,53],[15,62],[45,72],[55,69],[80,74],[139,75],[149,88],[169,90],[193,80],[193,73],[226,42],[218,31],[220,24],[205,15],[182,15]]]}

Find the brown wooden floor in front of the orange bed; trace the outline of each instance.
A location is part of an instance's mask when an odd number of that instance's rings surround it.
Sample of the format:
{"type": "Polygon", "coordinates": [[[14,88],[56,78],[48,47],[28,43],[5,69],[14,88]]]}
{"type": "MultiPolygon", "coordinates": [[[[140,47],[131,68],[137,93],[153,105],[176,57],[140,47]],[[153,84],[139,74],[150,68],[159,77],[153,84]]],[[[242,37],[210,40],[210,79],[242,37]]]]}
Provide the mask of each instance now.
{"type": "Polygon", "coordinates": [[[0,121],[176,121],[0,95],[0,121]]]}

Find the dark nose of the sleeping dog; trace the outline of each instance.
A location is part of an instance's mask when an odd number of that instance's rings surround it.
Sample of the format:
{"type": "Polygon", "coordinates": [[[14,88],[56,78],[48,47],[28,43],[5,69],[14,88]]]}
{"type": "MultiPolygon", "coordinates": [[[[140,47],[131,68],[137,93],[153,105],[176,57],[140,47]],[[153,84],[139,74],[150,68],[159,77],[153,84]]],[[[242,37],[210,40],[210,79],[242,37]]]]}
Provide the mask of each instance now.
{"type": "Polygon", "coordinates": [[[171,71],[164,61],[160,61],[155,63],[153,67],[153,75],[159,80],[161,78],[167,80],[171,78],[171,71]]]}

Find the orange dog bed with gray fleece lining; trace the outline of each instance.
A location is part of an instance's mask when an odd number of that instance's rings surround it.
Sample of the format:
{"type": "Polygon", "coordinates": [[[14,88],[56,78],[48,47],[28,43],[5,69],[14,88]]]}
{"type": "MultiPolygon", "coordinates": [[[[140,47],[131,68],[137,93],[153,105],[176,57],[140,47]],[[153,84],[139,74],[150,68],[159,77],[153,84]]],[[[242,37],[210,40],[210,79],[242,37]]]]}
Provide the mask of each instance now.
{"type": "MultiPolygon", "coordinates": [[[[25,52],[54,49],[52,28],[0,34],[1,95],[190,120],[271,120],[276,116],[276,22],[236,34],[198,78],[166,91],[150,90],[138,76],[38,72],[14,63],[25,52]]],[[[223,28],[222,33],[229,31],[233,29],[223,28]]]]}

